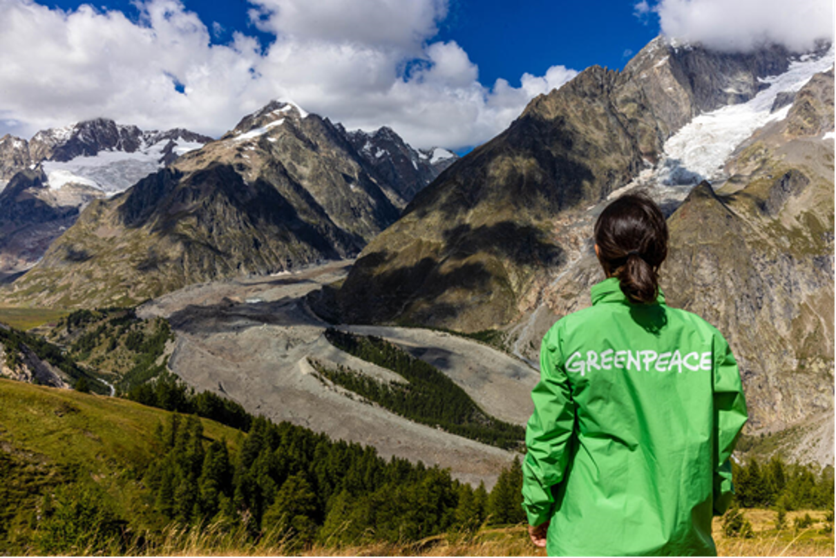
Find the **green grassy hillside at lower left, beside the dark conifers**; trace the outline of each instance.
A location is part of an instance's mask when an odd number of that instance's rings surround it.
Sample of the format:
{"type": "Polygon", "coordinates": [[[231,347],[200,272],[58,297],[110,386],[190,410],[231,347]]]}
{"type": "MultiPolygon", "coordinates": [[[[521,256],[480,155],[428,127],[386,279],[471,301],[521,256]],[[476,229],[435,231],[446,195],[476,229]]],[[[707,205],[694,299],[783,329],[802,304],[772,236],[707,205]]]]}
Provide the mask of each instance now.
{"type": "MultiPolygon", "coordinates": [[[[161,450],[155,429],[170,416],[122,399],[0,379],[0,555],[31,539],[44,496],[69,487],[72,498],[104,501],[134,528],[161,528],[165,520],[140,479],[161,450]]],[[[206,439],[237,446],[240,432],[201,422],[206,439]]]]}

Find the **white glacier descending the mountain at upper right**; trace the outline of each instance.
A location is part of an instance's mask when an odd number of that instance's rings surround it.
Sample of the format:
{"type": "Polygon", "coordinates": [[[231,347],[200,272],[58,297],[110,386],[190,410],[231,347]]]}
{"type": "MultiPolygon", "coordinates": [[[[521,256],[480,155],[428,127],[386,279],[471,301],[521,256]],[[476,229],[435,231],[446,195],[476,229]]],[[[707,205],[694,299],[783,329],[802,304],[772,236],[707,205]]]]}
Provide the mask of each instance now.
{"type": "Polygon", "coordinates": [[[704,179],[719,178],[723,165],[738,145],[755,130],[787,117],[790,104],[773,110],[776,101],[797,93],[813,75],[832,68],[834,61],[834,46],[820,58],[804,55],[794,60],[784,74],[762,79],[766,89],[748,103],[697,116],[665,143],[660,182],[670,186],[695,185],[704,179]]]}

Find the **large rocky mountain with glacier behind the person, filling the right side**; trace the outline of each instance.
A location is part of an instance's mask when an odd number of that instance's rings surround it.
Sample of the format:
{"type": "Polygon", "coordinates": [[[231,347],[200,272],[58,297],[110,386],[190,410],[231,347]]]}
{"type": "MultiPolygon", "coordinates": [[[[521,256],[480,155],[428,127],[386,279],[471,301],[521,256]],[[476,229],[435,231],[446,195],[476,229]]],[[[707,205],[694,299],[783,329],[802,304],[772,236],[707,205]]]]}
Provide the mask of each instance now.
{"type": "Polygon", "coordinates": [[[325,300],[346,323],[502,330],[536,366],[603,278],[594,220],[642,188],[670,216],[663,288],[729,337],[750,431],[832,417],[834,58],[658,38],[589,68],[422,191],[325,300]]]}

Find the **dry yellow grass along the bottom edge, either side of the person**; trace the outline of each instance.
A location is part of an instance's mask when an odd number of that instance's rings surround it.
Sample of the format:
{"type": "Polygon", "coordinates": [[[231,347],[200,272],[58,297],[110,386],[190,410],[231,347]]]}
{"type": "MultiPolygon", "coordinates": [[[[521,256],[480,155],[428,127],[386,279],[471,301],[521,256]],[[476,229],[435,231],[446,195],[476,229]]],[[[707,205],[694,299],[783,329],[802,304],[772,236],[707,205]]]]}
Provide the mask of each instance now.
{"type": "MultiPolygon", "coordinates": [[[[788,514],[788,524],[806,512],[788,514]]],[[[719,555],[727,558],[759,558],[776,556],[794,557],[830,557],[836,550],[833,534],[823,535],[824,514],[812,512],[810,515],[818,523],[812,528],[796,532],[792,528],[783,531],[774,530],[775,513],[766,510],[749,510],[747,517],[752,522],[755,537],[749,540],[727,539],[721,534],[720,521],[715,524],[715,539],[719,555]]],[[[267,558],[282,556],[302,556],[314,558],[332,556],[334,558],[377,558],[393,556],[395,558],[453,558],[466,556],[500,557],[509,556],[546,556],[544,550],[535,549],[529,542],[523,527],[482,530],[476,535],[446,535],[423,540],[414,545],[372,544],[350,548],[314,547],[303,551],[290,551],[287,541],[263,540],[253,544],[246,535],[222,535],[212,528],[172,532],[160,545],[143,549],[130,550],[125,556],[130,558],[155,558],[156,556],[175,556],[191,558],[267,558]]],[[[109,553],[113,555],[114,553],[109,553]]],[[[91,555],[79,553],[77,555],[91,555]]]]}

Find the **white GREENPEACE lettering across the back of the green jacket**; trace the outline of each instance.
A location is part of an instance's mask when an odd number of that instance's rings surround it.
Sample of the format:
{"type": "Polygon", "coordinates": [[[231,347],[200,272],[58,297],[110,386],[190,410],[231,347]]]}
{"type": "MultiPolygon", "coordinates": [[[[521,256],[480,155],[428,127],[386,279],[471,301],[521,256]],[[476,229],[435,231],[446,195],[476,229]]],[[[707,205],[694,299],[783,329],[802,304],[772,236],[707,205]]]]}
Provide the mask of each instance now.
{"type": "Polygon", "coordinates": [[[656,353],[655,351],[589,351],[574,353],[564,365],[567,373],[586,376],[593,370],[635,370],[637,372],[683,373],[686,370],[711,372],[711,353],[656,353]]]}

